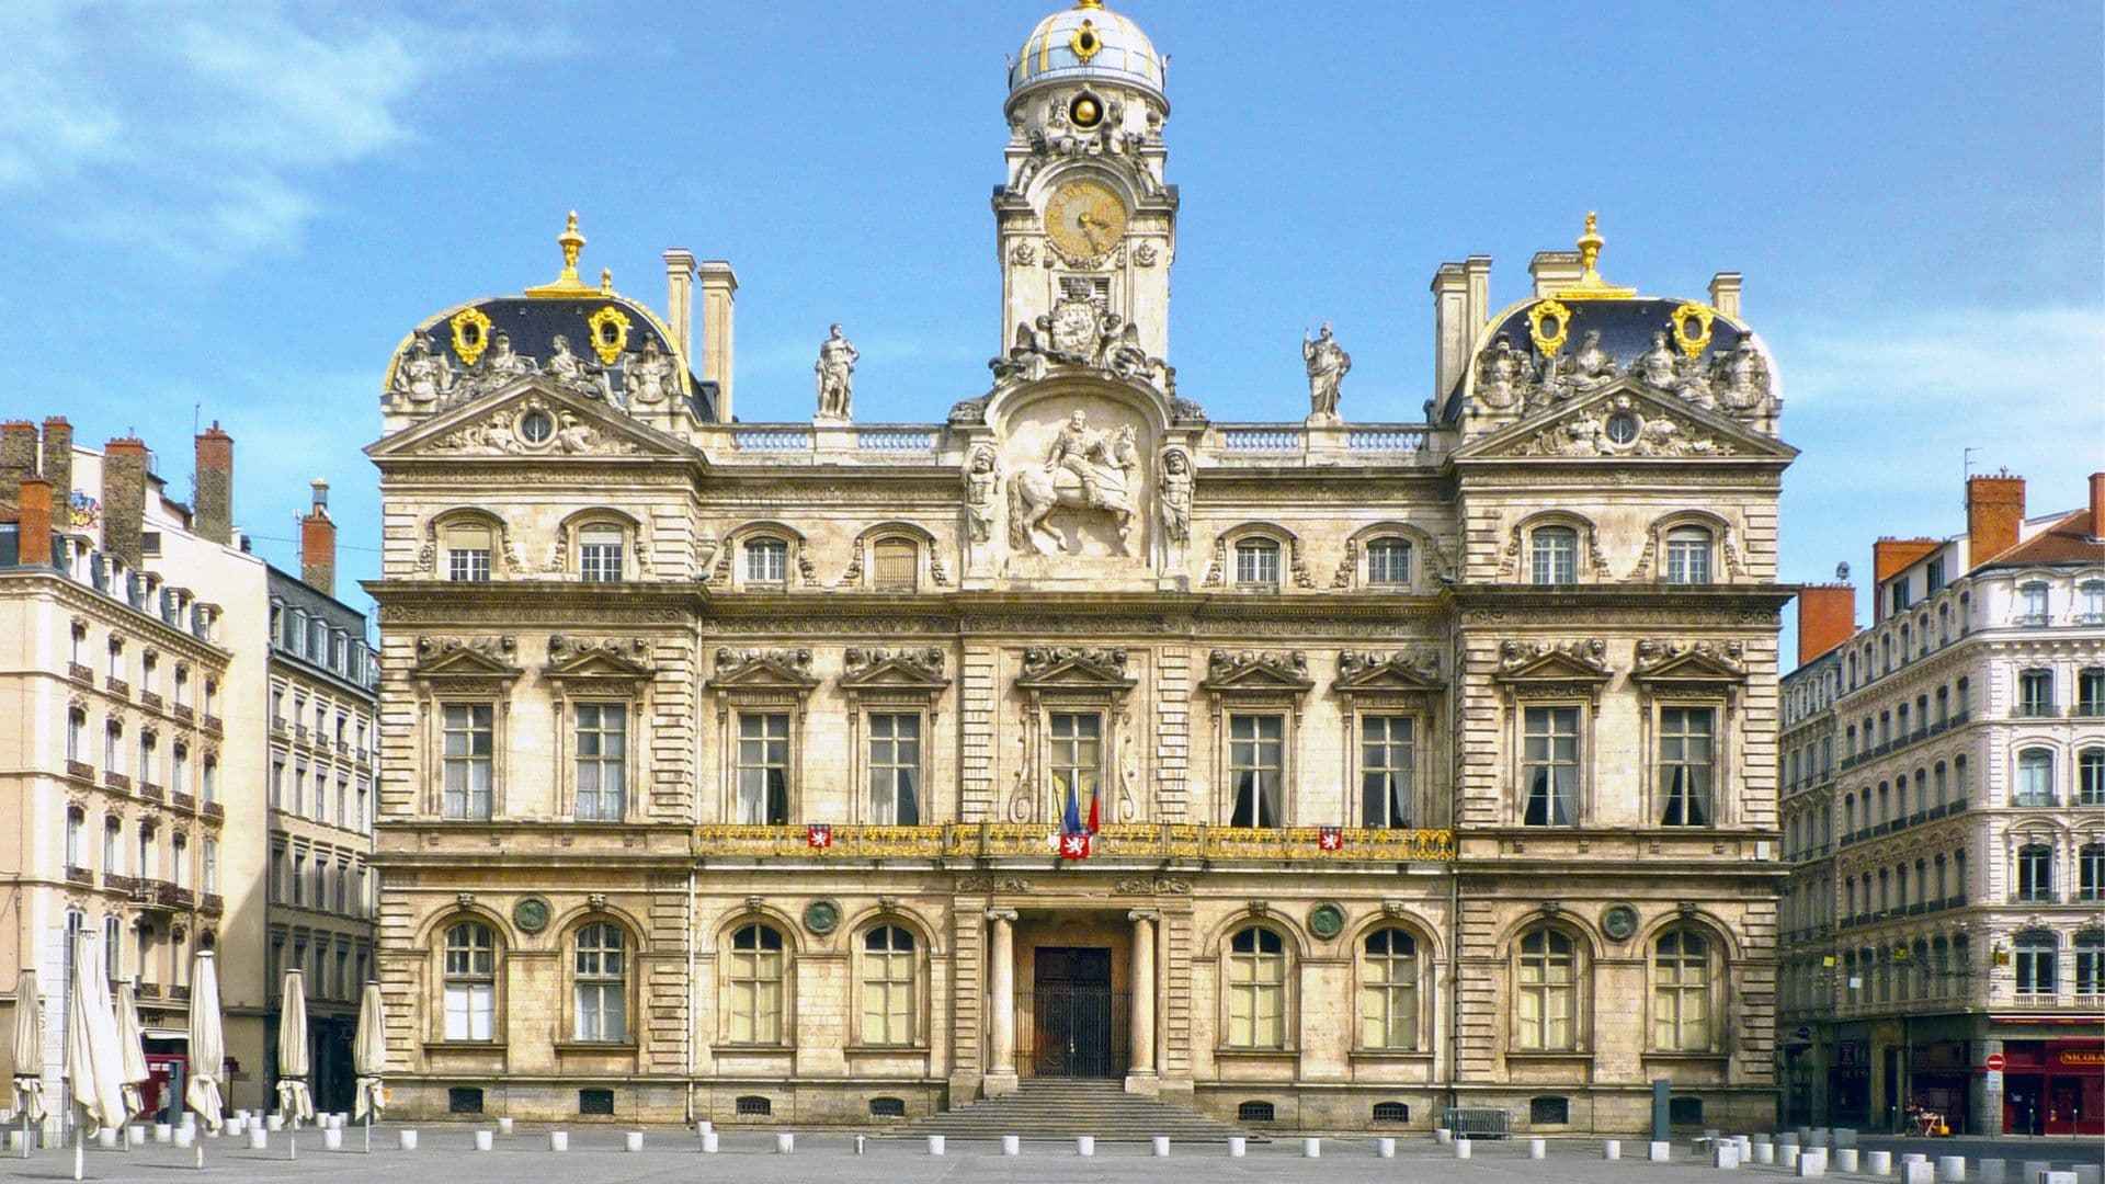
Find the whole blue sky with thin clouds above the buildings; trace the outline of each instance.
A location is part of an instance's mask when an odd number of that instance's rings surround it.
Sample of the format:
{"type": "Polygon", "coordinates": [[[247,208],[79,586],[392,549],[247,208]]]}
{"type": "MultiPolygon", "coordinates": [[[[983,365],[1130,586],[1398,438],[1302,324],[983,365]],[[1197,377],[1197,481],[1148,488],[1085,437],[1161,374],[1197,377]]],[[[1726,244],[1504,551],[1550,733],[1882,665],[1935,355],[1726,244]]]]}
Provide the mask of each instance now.
{"type": "MultiPolygon", "coordinates": [[[[219,419],[259,550],[320,474],[368,577],[389,350],[552,278],[577,209],[655,305],[665,246],[737,265],[743,419],[810,415],[829,320],[859,417],[937,419],[998,343],[1004,53],[1046,11],[11,0],[0,415],[137,430],[177,495],[219,419]]],[[[1324,318],[1345,415],[1415,419],[1434,268],[1492,255],[1503,305],[1598,209],[1610,280],[1745,272],[1804,449],[1785,579],[1958,529],[1966,447],[2036,510],[2105,468],[2097,4],[1124,11],[1172,57],[1170,360],[1217,419],[1305,413],[1324,318]]]]}

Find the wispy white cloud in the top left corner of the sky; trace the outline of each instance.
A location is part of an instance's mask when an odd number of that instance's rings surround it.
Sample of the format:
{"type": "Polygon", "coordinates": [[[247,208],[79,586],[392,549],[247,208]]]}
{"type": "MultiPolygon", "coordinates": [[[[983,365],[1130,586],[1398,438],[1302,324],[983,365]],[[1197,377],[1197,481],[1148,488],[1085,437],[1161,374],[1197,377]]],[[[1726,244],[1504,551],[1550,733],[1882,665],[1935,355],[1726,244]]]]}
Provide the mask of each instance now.
{"type": "MultiPolygon", "coordinates": [[[[265,0],[8,0],[0,44],[0,194],[185,265],[295,249],[330,173],[413,143],[419,91],[461,70],[436,25],[265,0]]],[[[474,61],[543,48],[478,38],[474,61]]]]}

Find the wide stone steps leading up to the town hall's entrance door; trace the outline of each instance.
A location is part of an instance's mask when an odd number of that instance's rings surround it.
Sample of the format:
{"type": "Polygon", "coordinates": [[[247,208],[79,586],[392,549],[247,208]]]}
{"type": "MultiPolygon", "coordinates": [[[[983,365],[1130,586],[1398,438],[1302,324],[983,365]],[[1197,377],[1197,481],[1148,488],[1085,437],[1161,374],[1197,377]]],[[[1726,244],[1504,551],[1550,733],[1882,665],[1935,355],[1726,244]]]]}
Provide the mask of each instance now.
{"type": "Polygon", "coordinates": [[[1183,1106],[1126,1093],[1120,1081],[1027,1079],[1021,1089],[1002,1098],[983,1098],[956,1110],[943,1110],[901,1123],[886,1131],[893,1138],[947,1136],[954,1140],[1071,1140],[1095,1136],[1101,1142],[1147,1142],[1168,1136],[1172,1142],[1225,1142],[1246,1136],[1238,1127],[1208,1119],[1183,1106]]]}

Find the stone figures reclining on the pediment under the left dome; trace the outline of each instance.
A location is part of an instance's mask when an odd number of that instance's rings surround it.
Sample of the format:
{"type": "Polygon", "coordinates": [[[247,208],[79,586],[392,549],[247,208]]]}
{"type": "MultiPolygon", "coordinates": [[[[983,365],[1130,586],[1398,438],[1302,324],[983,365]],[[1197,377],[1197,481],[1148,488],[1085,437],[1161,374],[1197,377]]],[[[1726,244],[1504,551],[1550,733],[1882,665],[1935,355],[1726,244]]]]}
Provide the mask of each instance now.
{"type": "Polygon", "coordinates": [[[520,354],[509,333],[493,333],[490,348],[474,367],[457,369],[432,346],[427,333],[417,333],[396,367],[392,394],[417,411],[453,407],[497,390],[524,375],[547,375],[558,386],[585,398],[608,402],[623,411],[650,409],[680,394],[680,362],[657,337],[646,337],[642,350],[621,354],[613,364],[579,356],[570,339],[554,335],[547,360],[520,354]]]}

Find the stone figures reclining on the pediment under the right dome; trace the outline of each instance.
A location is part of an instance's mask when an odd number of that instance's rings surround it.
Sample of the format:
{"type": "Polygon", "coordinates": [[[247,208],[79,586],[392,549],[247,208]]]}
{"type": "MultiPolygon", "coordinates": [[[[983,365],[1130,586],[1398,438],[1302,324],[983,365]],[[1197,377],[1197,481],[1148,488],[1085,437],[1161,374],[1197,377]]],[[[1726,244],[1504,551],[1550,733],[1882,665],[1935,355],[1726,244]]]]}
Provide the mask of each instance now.
{"type": "Polygon", "coordinates": [[[1770,402],[1768,362],[1751,337],[1743,335],[1735,348],[1705,362],[1673,350],[1667,333],[1657,331],[1648,350],[1619,367],[1615,354],[1602,348],[1598,329],[1585,331],[1570,354],[1549,356],[1516,350],[1511,337],[1499,335],[1476,360],[1476,398],[1486,411],[1520,409],[1532,415],[1621,377],[1741,419],[1762,415],[1770,402]]]}

